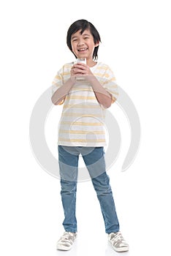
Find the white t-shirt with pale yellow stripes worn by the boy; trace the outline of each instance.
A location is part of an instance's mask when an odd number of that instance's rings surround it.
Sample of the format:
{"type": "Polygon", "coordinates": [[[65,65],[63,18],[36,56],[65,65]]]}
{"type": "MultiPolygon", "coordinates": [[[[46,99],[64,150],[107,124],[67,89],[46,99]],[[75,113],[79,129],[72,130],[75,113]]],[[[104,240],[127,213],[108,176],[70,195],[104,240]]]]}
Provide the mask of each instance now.
{"type": "MultiPolygon", "coordinates": [[[[73,62],[65,64],[58,71],[53,80],[53,93],[70,78],[72,65],[73,62]]],[[[90,69],[104,89],[116,99],[118,97],[117,84],[110,67],[98,62],[90,69]]],[[[105,108],[97,101],[91,84],[83,77],[77,78],[75,85],[64,99],[58,126],[58,145],[106,146],[105,112],[105,108]]]]}

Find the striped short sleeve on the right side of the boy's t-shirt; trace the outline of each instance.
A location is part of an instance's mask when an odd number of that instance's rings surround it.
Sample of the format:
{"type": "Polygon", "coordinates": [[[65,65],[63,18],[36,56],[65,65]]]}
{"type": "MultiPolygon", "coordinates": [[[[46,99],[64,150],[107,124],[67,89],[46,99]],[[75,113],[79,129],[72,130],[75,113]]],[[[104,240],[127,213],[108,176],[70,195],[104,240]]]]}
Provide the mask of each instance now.
{"type": "Polygon", "coordinates": [[[107,67],[104,78],[102,86],[112,95],[113,102],[115,102],[118,98],[118,84],[116,83],[115,75],[110,67],[107,67]]]}

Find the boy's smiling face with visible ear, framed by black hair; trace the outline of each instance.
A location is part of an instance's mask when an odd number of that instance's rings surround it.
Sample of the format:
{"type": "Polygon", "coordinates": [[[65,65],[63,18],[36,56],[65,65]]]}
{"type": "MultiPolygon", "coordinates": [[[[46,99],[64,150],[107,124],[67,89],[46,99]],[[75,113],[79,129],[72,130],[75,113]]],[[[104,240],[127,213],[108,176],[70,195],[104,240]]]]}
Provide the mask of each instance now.
{"type": "Polygon", "coordinates": [[[94,48],[99,45],[99,43],[94,44],[94,37],[92,36],[89,30],[83,31],[83,34],[80,34],[80,31],[77,31],[75,34],[72,34],[71,45],[72,51],[75,53],[78,59],[93,59],[94,48]]]}

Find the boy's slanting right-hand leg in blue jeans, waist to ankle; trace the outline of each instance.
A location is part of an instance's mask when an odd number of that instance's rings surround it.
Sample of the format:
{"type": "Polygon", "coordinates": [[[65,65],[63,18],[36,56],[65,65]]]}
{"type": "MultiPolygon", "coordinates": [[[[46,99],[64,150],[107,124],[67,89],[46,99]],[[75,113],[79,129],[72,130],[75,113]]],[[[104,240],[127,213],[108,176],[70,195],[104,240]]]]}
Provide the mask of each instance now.
{"type": "Polygon", "coordinates": [[[115,211],[113,192],[110,179],[105,170],[103,147],[94,148],[90,154],[83,155],[84,162],[91,176],[91,181],[99,199],[106,233],[116,233],[119,230],[118,217],[115,211]]]}

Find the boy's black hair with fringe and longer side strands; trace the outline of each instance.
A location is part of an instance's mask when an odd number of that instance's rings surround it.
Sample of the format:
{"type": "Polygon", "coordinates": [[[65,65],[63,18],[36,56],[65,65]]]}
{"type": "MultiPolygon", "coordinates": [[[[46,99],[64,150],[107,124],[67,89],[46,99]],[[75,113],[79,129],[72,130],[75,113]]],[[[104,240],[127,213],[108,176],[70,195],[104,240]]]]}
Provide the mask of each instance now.
{"type": "MultiPolygon", "coordinates": [[[[99,32],[96,30],[95,26],[89,22],[88,20],[77,20],[74,23],[72,23],[71,26],[69,26],[69,29],[67,31],[67,36],[66,36],[66,44],[69,47],[69,50],[72,51],[72,45],[71,45],[71,37],[72,34],[75,34],[77,31],[80,31],[80,34],[83,34],[83,32],[86,29],[89,29],[92,36],[94,37],[94,44],[101,42],[99,32]]],[[[93,59],[96,60],[98,59],[98,50],[99,50],[99,45],[94,48],[94,53],[93,53],[93,59]]],[[[73,53],[75,55],[75,53],[73,53]]],[[[77,58],[77,56],[75,56],[77,58]]]]}

